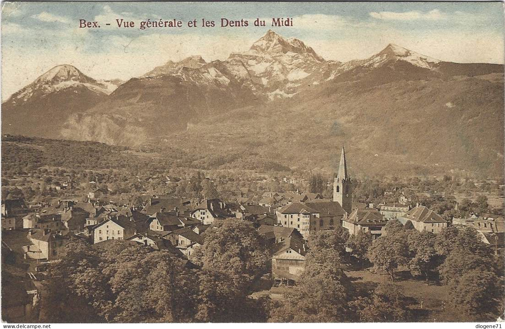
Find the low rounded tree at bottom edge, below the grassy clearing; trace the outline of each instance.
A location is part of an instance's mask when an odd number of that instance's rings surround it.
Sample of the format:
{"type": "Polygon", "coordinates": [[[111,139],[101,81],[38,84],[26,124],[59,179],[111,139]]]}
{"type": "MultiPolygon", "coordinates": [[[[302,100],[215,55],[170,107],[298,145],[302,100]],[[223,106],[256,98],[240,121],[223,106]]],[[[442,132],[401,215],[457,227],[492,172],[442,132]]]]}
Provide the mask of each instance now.
{"type": "Polygon", "coordinates": [[[391,284],[380,284],[371,296],[349,304],[363,322],[402,322],[407,317],[405,297],[391,284]]]}

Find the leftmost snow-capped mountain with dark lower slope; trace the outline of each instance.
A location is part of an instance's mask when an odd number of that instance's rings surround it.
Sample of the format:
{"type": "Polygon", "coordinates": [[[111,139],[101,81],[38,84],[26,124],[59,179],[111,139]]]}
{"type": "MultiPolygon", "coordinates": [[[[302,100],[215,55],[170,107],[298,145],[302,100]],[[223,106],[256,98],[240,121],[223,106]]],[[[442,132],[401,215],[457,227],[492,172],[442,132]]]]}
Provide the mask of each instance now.
{"type": "Polygon", "coordinates": [[[104,100],[118,83],[97,81],[72,65],[55,66],[2,104],[2,130],[60,137],[59,129],[71,114],[104,100]]]}

